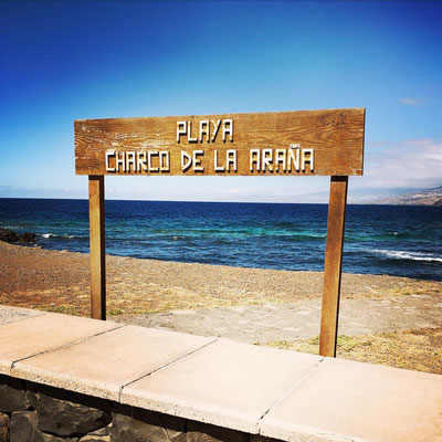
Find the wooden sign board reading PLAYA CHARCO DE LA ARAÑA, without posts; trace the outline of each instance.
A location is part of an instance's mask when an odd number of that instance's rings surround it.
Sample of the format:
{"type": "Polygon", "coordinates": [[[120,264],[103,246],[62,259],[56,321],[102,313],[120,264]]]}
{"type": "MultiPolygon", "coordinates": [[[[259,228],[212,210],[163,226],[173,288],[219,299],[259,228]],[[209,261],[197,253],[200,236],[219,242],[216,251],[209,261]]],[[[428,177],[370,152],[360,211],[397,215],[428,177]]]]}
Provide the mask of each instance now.
{"type": "Polygon", "coordinates": [[[365,109],[75,120],[77,175],[362,175],[365,109]]]}

